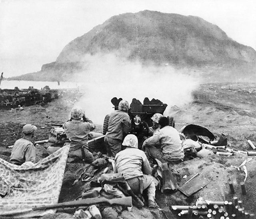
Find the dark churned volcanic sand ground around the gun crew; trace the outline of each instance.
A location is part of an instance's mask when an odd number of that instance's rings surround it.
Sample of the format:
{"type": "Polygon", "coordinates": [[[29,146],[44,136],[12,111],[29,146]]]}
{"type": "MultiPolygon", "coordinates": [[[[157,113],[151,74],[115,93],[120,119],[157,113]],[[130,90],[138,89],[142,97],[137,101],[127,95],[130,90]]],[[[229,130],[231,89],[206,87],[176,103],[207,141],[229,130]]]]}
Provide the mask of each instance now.
{"type": "MultiPolygon", "coordinates": [[[[217,138],[221,133],[228,136],[228,143],[234,150],[252,150],[247,143],[250,139],[256,143],[256,109],[255,103],[256,85],[248,83],[234,84],[204,84],[194,91],[194,102],[184,106],[173,106],[168,114],[174,116],[176,129],[179,130],[187,124],[197,124],[208,128],[217,138]]],[[[9,160],[8,153],[11,149],[6,146],[14,144],[21,137],[22,126],[27,123],[35,124],[38,131],[34,140],[48,139],[52,126],[45,123],[63,123],[68,119],[70,109],[75,99],[79,99],[82,93],[76,90],[62,91],[60,98],[45,106],[34,105],[24,107],[24,110],[10,112],[0,110],[0,158],[9,160]]],[[[146,94],[145,94],[146,97],[146,94]]],[[[103,123],[103,122],[102,122],[103,123]]],[[[102,124],[98,124],[96,131],[102,130],[102,124]]],[[[47,156],[43,145],[36,148],[36,160],[47,156]]],[[[232,180],[235,187],[235,196],[243,200],[245,210],[256,213],[256,158],[254,156],[239,155],[225,157],[216,154],[208,158],[195,158],[173,166],[173,172],[182,185],[196,173],[208,180],[208,185],[198,193],[187,198],[179,191],[170,195],[156,194],[156,202],[166,212],[169,218],[176,218],[177,213],[170,211],[170,205],[194,204],[197,197],[212,201],[231,200],[228,181],[232,180]],[[238,171],[233,166],[239,166],[244,160],[252,157],[253,160],[246,163],[248,178],[246,180],[247,195],[241,194],[239,183],[244,180],[243,171],[238,171]],[[183,176],[188,176],[186,179],[183,176]]],[[[84,169],[83,164],[67,164],[62,191],[59,201],[71,201],[81,195],[88,188],[88,184],[78,182],[72,186],[74,180],[84,169]]],[[[72,218],[71,215],[54,215],[45,218],[72,218]]],[[[123,211],[120,218],[164,218],[157,209],[147,207],[138,210],[133,207],[131,212],[123,211]]],[[[178,218],[178,217],[177,217],[178,218]]]]}

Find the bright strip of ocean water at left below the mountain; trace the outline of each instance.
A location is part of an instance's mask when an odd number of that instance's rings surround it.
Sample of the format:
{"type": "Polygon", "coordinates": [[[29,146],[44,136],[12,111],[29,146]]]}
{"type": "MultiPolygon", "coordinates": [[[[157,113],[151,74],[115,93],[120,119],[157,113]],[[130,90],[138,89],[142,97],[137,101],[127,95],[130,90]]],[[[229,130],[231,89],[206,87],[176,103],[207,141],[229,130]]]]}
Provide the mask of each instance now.
{"type": "Polygon", "coordinates": [[[76,88],[83,85],[83,83],[75,83],[75,82],[62,82],[60,81],[60,85],[58,85],[57,81],[7,81],[2,80],[0,88],[1,89],[14,89],[14,87],[18,87],[19,89],[28,89],[28,87],[34,87],[35,89],[44,88],[44,86],[48,85],[50,89],[68,89],[68,88],[76,88]]]}

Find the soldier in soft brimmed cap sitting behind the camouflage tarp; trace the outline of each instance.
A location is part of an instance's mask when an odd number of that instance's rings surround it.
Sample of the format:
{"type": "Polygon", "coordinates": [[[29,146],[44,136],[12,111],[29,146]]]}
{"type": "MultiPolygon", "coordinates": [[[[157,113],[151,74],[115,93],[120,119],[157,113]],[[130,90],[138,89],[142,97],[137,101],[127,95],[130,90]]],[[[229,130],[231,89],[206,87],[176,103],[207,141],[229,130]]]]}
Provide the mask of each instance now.
{"type": "Polygon", "coordinates": [[[32,141],[36,130],[36,126],[31,124],[23,126],[22,133],[24,136],[14,143],[12,154],[10,156],[10,163],[20,166],[24,162],[30,161],[34,163],[36,161],[36,148],[32,141]]]}

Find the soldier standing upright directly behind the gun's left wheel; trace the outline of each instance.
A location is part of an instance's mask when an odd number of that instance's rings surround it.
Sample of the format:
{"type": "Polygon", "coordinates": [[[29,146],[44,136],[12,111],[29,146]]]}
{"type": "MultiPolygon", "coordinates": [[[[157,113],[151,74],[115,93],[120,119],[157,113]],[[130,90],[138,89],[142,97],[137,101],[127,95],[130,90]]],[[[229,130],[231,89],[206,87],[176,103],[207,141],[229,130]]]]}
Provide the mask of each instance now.
{"type": "Polygon", "coordinates": [[[104,142],[109,156],[114,157],[121,151],[122,141],[124,139],[122,122],[130,121],[130,116],[128,115],[129,108],[129,103],[122,100],[119,102],[118,110],[109,114],[107,132],[104,137],[104,142]]]}

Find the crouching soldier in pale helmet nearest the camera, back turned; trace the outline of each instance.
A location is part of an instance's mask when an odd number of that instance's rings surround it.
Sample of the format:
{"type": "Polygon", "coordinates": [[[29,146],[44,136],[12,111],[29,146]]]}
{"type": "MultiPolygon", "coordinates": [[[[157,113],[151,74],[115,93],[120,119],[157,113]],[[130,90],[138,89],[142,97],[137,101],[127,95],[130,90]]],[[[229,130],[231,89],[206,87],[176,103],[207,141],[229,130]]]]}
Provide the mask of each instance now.
{"type": "Polygon", "coordinates": [[[126,148],[116,154],[114,172],[124,176],[132,191],[141,195],[145,189],[148,193],[148,207],[156,207],[156,185],[150,175],[152,170],[146,154],[138,149],[138,139],[128,134],[122,143],[126,148]]]}

